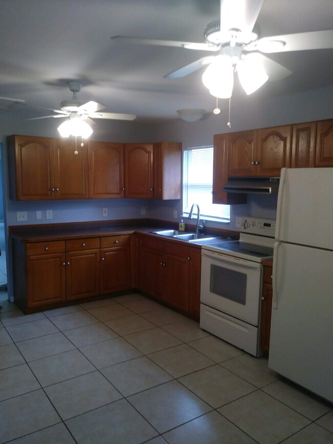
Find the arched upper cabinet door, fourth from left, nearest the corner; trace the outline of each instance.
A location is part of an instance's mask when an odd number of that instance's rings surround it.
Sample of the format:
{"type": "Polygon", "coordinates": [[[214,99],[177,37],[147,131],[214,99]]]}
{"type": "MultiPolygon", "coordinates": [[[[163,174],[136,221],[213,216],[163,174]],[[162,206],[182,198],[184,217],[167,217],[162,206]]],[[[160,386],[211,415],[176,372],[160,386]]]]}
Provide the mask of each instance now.
{"type": "Polygon", "coordinates": [[[153,144],[125,145],[125,197],[153,198],[153,144]]]}

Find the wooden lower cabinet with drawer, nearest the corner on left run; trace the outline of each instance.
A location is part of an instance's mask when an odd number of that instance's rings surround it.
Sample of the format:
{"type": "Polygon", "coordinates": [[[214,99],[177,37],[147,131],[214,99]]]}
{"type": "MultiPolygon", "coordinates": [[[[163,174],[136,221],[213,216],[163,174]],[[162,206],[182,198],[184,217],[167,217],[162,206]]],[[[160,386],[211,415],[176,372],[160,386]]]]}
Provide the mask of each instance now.
{"type": "Polygon", "coordinates": [[[131,288],[131,236],[100,238],[100,293],[131,288]]]}

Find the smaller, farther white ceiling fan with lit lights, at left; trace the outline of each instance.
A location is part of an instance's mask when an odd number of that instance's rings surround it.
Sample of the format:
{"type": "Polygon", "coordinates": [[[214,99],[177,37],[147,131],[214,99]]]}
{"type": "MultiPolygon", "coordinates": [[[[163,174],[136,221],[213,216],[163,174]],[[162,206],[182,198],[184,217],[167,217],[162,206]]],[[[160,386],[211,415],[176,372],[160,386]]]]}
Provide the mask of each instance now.
{"type": "Polygon", "coordinates": [[[52,110],[57,114],[51,116],[34,117],[27,120],[47,119],[49,117],[54,118],[67,118],[67,120],[58,128],[61,136],[69,137],[73,136],[89,137],[92,134],[92,129],[89,125],[94,124],[93,119],[115,119],[115,120],[134,120],[135,114],[120,114],[120,113],[101,113],[106,105],[94,102],[93,100],[83,103],[77,99],[77,93],[81,90],[82,83],[76,80],[67,82],[70,91],[73,93],[71,100],[63,100],[60,102],[60,110],[53,110],[52,108],[45,108],[52,110]]]}

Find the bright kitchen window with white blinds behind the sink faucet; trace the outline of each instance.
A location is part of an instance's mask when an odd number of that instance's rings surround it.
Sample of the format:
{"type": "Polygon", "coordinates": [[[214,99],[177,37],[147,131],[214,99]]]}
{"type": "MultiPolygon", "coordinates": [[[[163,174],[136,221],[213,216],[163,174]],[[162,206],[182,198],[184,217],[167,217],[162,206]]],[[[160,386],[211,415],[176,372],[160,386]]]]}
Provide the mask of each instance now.
{"type": "Polygon", "coordinates": [[[202,219],[230,222],[230,205],[212,203],[213,146],[197,146],[183,151],[183,215],[197,203],[202,219]]]}

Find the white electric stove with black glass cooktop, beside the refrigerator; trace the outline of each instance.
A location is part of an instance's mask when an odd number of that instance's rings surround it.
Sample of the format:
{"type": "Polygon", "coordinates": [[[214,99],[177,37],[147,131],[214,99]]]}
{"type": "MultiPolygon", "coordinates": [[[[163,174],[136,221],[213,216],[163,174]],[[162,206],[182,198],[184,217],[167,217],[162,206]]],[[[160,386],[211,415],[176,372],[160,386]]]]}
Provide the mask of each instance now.
{"type": "Polygon", "coordinates": [[[273,258],[275,221],[242,218],[239,241],[203,245],[200,327],[259,356],[262,261],[273,258]]]}

